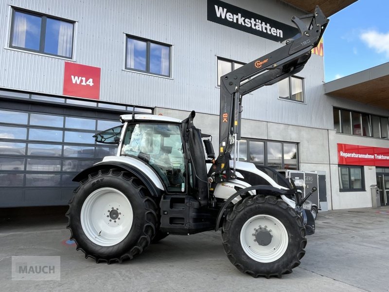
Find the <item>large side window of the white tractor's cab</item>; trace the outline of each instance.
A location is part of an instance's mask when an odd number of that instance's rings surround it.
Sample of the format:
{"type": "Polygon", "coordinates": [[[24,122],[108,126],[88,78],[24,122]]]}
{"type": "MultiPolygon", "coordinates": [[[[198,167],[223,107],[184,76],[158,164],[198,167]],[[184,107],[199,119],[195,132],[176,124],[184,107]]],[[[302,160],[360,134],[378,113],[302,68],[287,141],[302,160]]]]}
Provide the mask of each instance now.
{"type": "Polygon", "coordinates": [[[184,192],[184,155],[178,125],[129,124],[121,155],[149,164],[169,192],[184,192]]]}

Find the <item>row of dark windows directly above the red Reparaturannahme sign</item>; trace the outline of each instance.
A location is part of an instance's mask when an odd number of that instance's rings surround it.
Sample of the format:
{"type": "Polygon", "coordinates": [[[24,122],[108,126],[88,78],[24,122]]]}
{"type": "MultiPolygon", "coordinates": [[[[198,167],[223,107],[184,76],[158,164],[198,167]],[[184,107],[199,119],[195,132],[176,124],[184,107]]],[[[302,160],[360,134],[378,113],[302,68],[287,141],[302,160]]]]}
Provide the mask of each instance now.
{"type": "Polygon", "coordinates": [[[388,122],[387,117],[334,108],[334,128],[337,133],[389,139],[388,122]]]}

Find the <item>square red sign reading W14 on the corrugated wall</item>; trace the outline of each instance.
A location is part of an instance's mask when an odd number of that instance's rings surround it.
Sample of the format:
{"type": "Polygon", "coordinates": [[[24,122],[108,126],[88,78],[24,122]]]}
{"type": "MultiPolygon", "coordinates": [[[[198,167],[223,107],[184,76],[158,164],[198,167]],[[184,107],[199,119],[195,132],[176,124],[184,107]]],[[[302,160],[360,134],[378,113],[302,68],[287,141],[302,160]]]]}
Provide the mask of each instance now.
{"type": "Polygon", "coordinates": [[[100,68],[65,62],[64,95],[100,98],[100,68]]]}

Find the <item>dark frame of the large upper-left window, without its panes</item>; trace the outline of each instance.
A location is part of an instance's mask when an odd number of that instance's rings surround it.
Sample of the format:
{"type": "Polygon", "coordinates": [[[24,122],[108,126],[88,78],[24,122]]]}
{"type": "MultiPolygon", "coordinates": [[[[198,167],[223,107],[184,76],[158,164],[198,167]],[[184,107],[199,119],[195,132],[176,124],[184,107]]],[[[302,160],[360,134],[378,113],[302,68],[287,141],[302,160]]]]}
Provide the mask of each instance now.
{"type": "Polygon", "coordinates": [[[9,34],[8,48],[16,49],[16,50],[20,50],[20,51],[25,51],[25,52],[30,52],[30,53],[37,53],[37,54],[42,54],[42,55],[48,55],[48,56],[54,56],[54,57],[59,57],[59,58],[65,58],[65,59],[68,59],[68,60],[73,60],[73,56],[74,56],[74,43],[75,43],[75,24],[76,24],[76,21],[71,20],[71,19],[66,19],[66,18],[52,16],[52,15],[45,14],[45,13],[39,13],[39,12],[35,12],[35,11],[31,11],[31,10],[27,10],[27,9],[15,7],[15,6],[11,6],[11,9],[12,9],[12,17],[11,17],[11,26],[10,26],[10,30],[9,30],[10,34],[9,34]],[[24,14],[29,14],[29,15],[33,15],[33,16],[41,18],[40,35],[39,35],[39,50],[34,50],[34,49],[29,49],[29,48],[24,48],[24,47],[19,47],[19,46],[12,45],[13,36],[14,36],[14,24],[15,24],[15,13],[16,12],[20,12],[20,13],[24,13],[24,14]],[[52,54],[52,53],[46,53],[45,52],[45,38],[46,38],[47,18],[51,18],[51,19],[59,20],[59,21],[63,21],[63,22],[68,22],[68,23],[72,24],[73,29],[72,29],[72,37],[71,37],[71,56],[68,57],[68,56],[65,56],[65,55],[57,55],[57,54],[52,54]]]}

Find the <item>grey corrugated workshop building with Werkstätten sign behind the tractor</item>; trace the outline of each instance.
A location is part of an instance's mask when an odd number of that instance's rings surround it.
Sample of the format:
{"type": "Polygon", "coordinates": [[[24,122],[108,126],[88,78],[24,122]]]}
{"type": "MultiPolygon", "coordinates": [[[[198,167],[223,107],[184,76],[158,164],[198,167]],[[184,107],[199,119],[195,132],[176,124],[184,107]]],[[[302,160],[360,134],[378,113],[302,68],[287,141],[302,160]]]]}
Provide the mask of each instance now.
{"type": "MultiPolygon", "coordinates": [[[[353,2],[318,4],[330,17],[353,2]]],[[[195,110],[217,143],[220,76],[281,47],[298,32],[292,16],[314,8],[2,1],[0,207],[66,204],[75,174],[116,153],[92,135],[133,110],[180,119],[195,110]]],[[[321,42],[298,75],[244,97],[239,160],[324,175],[323,210],[371,207],[377,184],[389,204],[388,64],[324,84],[323,55],[321,42]]]]}

